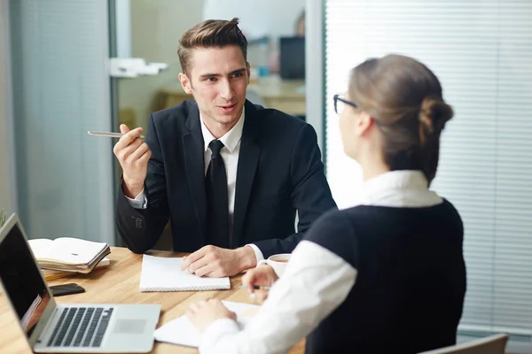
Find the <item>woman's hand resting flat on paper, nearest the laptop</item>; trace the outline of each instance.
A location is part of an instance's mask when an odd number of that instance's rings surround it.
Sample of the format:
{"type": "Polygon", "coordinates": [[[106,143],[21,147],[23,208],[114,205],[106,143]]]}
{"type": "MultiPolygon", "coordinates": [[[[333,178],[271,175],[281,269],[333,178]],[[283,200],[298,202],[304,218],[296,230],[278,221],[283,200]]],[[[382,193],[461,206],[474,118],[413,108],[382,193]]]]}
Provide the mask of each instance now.
{"type": "Polygon", "coordinates": [[[205,332],[207,327],[216,319],[237,320],[237,314],[229,311],[218,299],[201,300],[196,304],[191,304],[186,312],[186,317],[201,333],[205,332]]]}

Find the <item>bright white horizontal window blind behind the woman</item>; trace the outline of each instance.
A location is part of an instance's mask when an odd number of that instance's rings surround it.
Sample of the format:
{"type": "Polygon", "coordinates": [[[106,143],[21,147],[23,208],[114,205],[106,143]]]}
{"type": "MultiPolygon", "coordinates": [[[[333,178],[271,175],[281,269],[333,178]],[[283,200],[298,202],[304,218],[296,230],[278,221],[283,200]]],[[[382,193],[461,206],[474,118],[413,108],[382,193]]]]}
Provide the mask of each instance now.
{"type": "Polygon", "coordinates": [[[455,109],[431,188],[465,225],[459,329],[530,341],[532,2],[325,1],[327,178],[340,207],[356,204],[362,177],[343,153],[332,95],[352,67],[388,53],[429,66],[455,109]]]}

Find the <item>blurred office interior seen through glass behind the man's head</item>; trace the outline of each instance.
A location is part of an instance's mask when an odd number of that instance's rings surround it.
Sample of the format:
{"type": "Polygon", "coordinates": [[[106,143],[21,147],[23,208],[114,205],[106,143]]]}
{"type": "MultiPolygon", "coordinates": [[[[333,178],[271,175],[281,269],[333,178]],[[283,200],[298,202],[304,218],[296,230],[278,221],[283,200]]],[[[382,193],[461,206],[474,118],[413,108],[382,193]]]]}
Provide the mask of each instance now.
{"type": "Polygon", "coordinates": [[[253,68],[250,87],[253,93],[249,96],[253,95],[251,98],[259,101],[258,104],[304,116],[304,23],[301,37],[296,33],[298,19],[304,16],[304,0],[117,0],[116,4],[128,4],[118,7],[125,13],[116,12],[116,21],[121,24],[129,20],[130,28],[129,33],[128,28],[117,33],[118,56],[168,64],[168,70],[157,75],[118,82],[119,114],[123,121],[130,120],[131,124],[146,127],[151,112],[191,98],[176,80],[181,71],[176,55],[180,36],[203,19],[234,17],[241,20],[240,28],[249,42],[248,61],[253,68]],[[122,16],[129,19],[122,19],[122,16]],[[283,80],[280,77],[281,41],[285,59],[283,80]],[[286,105],[283,94],[293,96],[298,106],[286,105]]]}

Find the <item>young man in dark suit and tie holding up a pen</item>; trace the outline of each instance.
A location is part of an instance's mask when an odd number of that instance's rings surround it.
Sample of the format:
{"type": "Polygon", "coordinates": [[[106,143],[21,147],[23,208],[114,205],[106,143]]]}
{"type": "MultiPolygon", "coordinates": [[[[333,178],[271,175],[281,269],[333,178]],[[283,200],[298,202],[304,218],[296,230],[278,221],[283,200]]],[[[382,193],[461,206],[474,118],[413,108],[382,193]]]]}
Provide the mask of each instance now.
{"type": "Polygon", "coordinates": [[[200,276],[233,275],[291,252],[336,207],[313,127],[246,101],[238,23],[207,20],[187,31],[179,80],[195,101],[153,113],[145,142],[142,128],[122,125],[114,146],[124,242],[136,253],[151,249],[169,218],[174,250],[193,252],[182,268],[200,276]]]}

